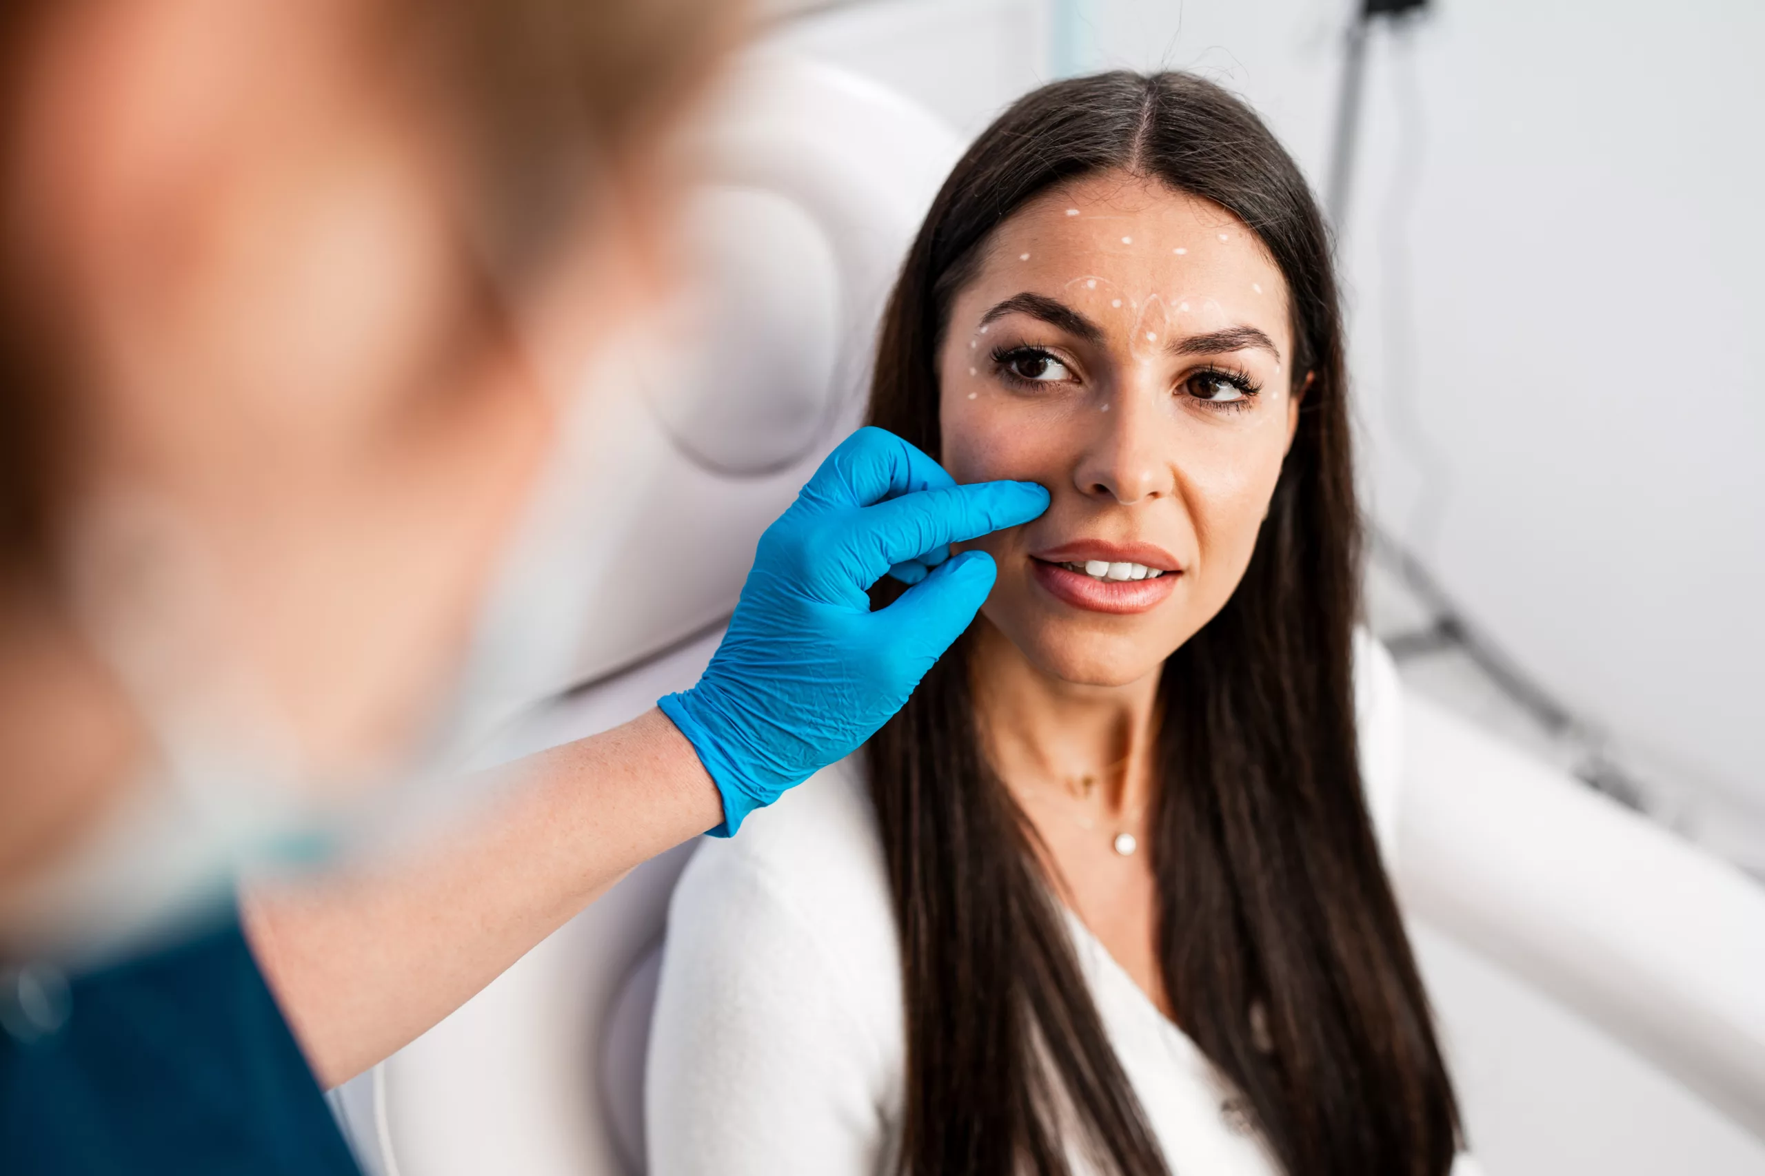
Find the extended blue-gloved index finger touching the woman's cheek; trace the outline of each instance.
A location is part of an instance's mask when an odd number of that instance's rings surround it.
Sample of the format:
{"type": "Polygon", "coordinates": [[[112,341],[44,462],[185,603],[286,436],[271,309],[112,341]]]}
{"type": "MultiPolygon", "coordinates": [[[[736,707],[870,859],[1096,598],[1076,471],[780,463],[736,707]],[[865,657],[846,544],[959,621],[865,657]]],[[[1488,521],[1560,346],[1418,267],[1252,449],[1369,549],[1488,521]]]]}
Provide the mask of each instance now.
{"type": "Polygon", "coordinates": [[[976,481],[905,494],[858,513],[842,536],[842,562],[858,587],[870,587],[895,564],[1025,524],[1045,510],[1048,492],[1034,481],[976,481]]]}

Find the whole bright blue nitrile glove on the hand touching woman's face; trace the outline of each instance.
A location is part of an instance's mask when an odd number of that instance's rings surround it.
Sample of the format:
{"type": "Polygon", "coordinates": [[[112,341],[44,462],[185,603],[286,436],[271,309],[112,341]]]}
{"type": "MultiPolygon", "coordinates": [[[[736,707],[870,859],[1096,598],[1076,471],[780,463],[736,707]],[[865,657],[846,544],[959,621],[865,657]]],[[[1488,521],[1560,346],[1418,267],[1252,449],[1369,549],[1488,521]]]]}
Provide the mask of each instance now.
{"type": "Polygon", "coordinates": [[[950,559],[950,543],[1047,508],[1033,481],[958,487],[882,428],[842,441],[761,536],[704,677],[657,703],[724,793],[711,832],[732,834],[900,711],[992,591],[992,557],[950,559]],[[916,587],[870,612],[884,573],[916,587]]]}

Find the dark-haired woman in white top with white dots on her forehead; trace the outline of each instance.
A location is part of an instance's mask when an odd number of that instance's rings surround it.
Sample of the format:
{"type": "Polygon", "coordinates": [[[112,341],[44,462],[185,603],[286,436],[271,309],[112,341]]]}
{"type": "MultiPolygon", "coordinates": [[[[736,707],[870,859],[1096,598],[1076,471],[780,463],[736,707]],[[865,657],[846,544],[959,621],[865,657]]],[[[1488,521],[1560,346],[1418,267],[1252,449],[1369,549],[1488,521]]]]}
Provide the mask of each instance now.
{"type": "Polygon", "coordinates": [[[976,543],[997,584],[905,709],[683,878],[655,1172],[1460,1162],[1345,391],[1322,219],[1239,100],[1103,74],[974,143],[870,420],[1052,504],[976,543]]]}

